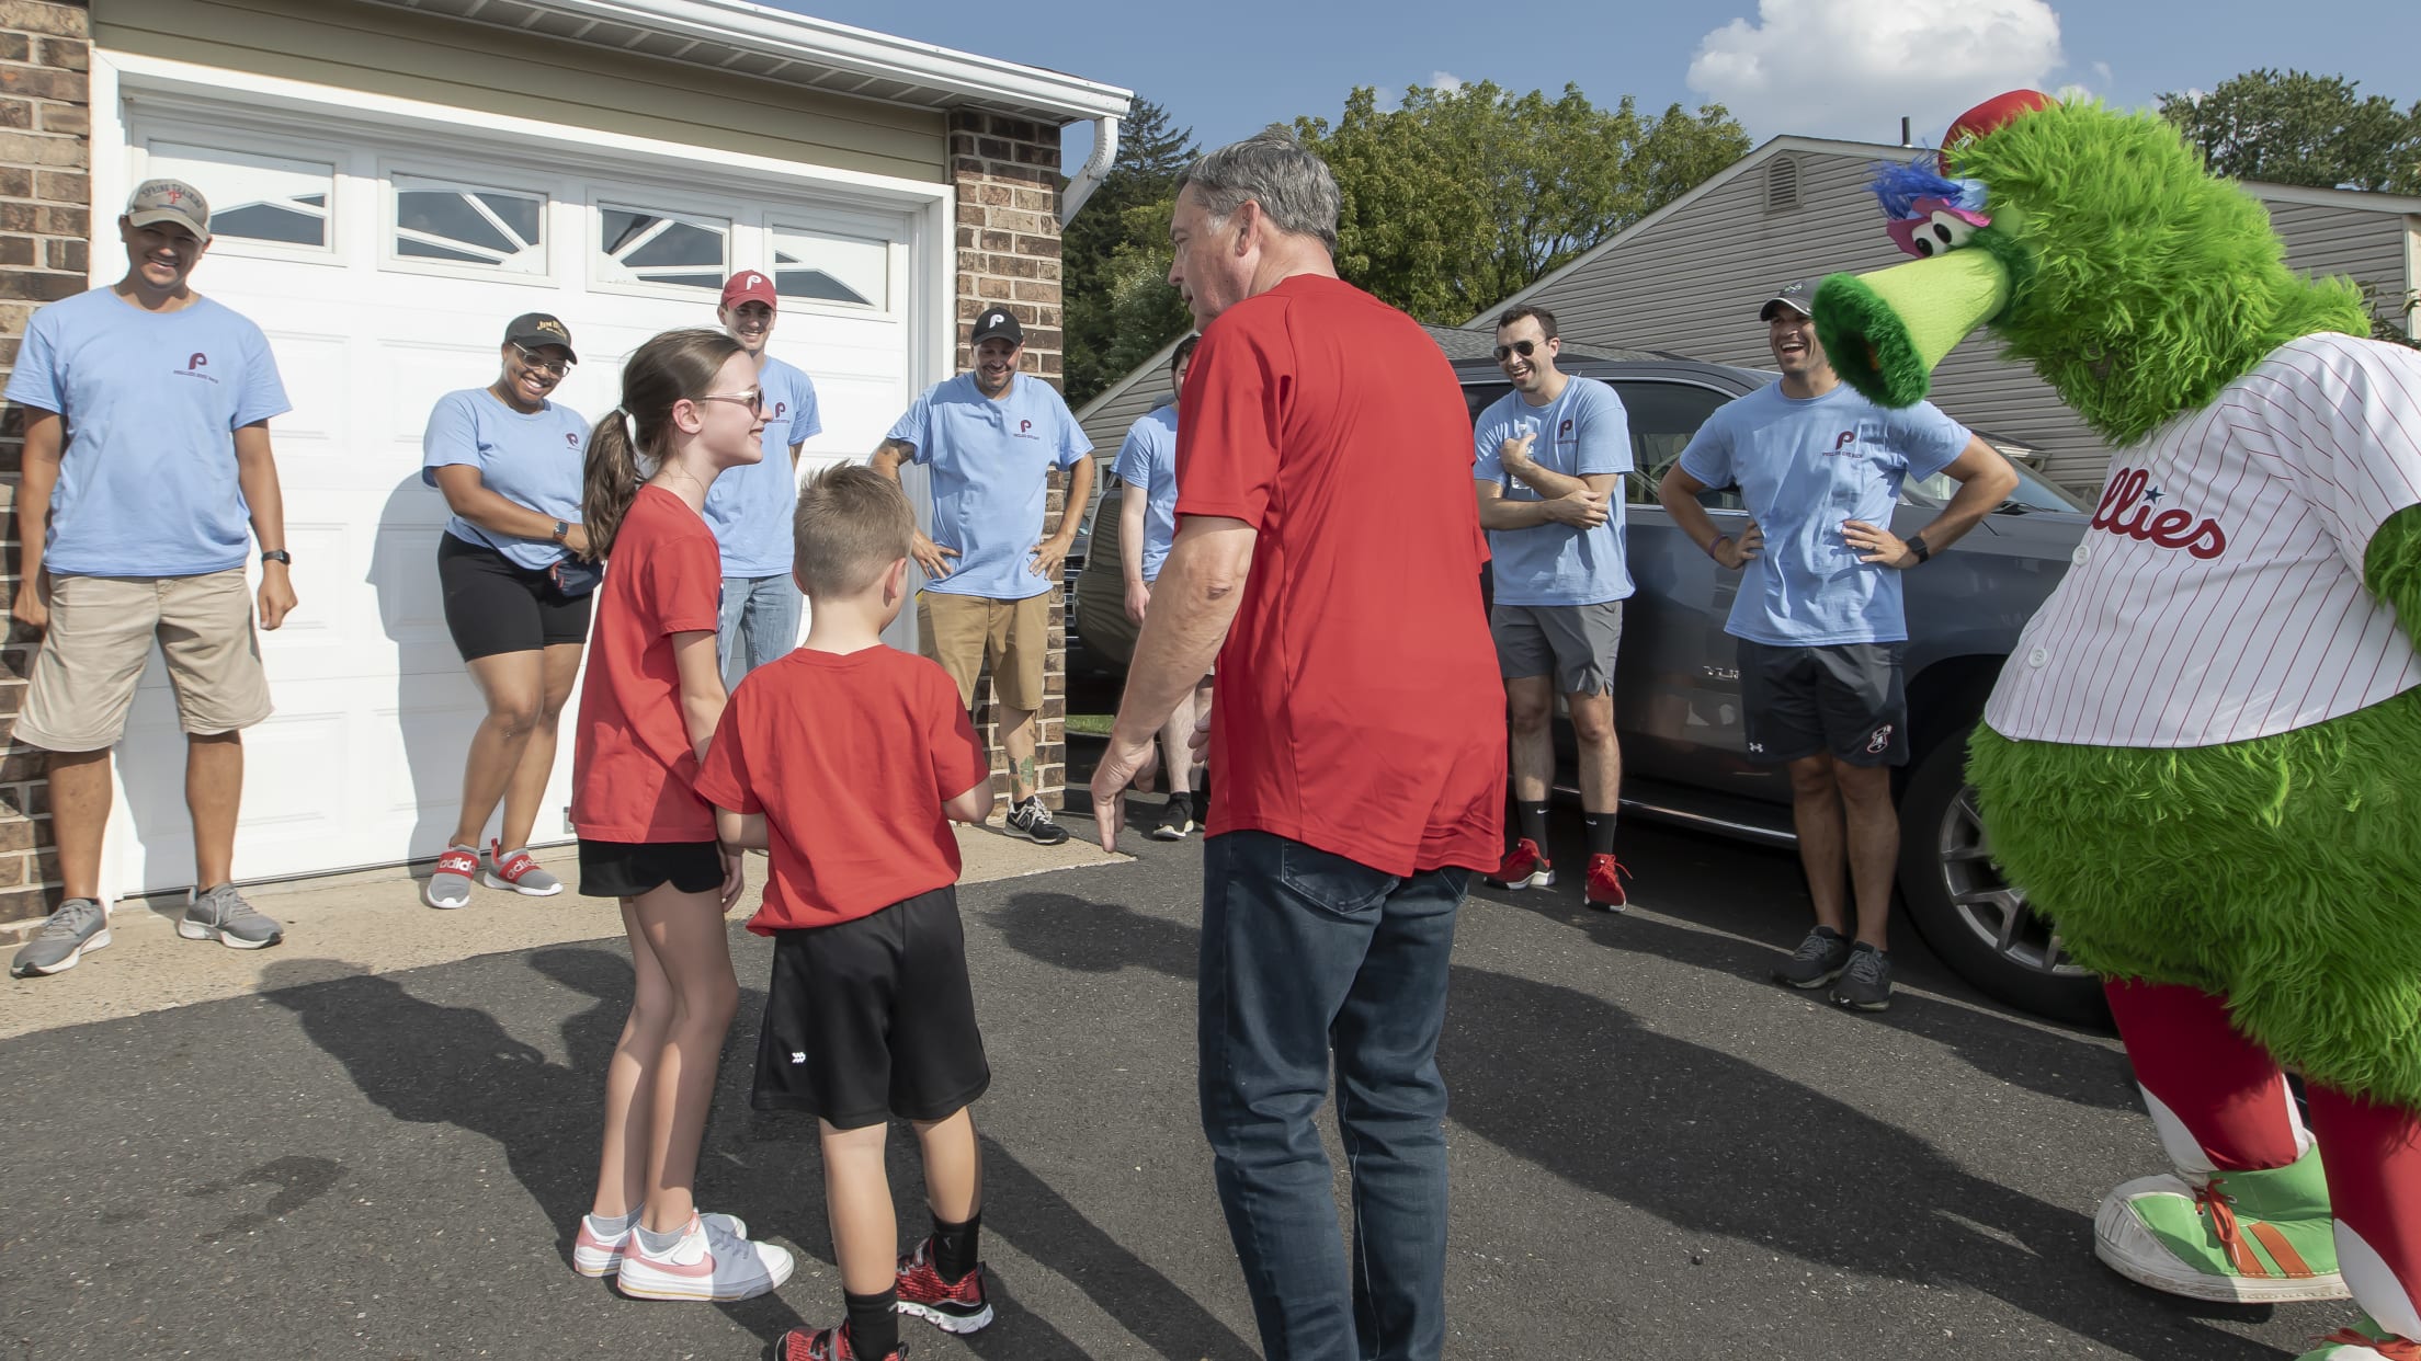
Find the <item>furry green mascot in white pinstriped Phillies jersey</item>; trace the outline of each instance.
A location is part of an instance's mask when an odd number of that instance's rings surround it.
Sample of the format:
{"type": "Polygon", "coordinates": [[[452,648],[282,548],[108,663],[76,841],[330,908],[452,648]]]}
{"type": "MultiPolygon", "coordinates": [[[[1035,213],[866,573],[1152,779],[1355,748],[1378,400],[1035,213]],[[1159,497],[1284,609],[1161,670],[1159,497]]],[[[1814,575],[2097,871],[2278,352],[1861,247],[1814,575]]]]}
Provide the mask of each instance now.
{"type": "Polygon", "coordinates": [[[2305,1361],[2421,1361],[2421,351],[2150,114],[2002,94],[1874,189],[1917,259],[1823,281],[1840,375],[1915,402],[1985,325],[2116,450],[1968,741],[2174,1162],[2094,1247],[2198,1300],[2351,1296],[2305,1361]]]}

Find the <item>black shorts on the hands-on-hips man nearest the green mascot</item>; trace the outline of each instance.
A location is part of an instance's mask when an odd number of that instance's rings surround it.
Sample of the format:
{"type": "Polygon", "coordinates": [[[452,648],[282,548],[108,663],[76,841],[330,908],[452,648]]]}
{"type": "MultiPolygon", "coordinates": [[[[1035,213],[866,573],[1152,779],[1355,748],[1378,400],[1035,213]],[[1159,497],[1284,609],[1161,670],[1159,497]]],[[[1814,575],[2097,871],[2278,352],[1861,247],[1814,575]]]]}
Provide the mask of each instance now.
{"type": "Polygon", "coordinates": [[[1782,765],[1830,751],[1842,765],[1908,765],[1905,644],[1736,642],[1750,760],[1782,765]]]}

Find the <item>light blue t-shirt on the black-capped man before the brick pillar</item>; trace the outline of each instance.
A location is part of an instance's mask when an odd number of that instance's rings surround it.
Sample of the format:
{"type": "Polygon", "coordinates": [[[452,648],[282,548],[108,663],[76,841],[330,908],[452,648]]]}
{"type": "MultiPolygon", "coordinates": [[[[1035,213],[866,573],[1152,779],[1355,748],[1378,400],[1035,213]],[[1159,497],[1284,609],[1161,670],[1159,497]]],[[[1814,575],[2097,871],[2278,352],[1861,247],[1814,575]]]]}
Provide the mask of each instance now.
{"type": "Polygon", "coordinates": [[[1056,387],[1019,373],[993,402],[961,373],[918,395],[886,438],[932,467],[932,542],[959,552],[927,591],[1024,601],[1056,584],[1034,574],[1048,475],[1092,453],[1056,387]]]}

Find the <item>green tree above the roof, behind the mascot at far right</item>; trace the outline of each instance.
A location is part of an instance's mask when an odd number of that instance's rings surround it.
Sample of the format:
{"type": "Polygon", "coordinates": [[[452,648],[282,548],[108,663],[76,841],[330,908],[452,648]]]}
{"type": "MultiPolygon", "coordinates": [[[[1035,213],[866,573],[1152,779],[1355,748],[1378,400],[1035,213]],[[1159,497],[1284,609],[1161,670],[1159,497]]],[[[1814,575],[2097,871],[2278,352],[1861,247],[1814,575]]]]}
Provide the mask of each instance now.
{"type": "Polygon", "coordinates": [[[2397,109],[2341,75],[2247,70],[2210,94],[2162,94],[2160,114],[2232,179],[2421,194],[2421,102],[2397,109]]]}

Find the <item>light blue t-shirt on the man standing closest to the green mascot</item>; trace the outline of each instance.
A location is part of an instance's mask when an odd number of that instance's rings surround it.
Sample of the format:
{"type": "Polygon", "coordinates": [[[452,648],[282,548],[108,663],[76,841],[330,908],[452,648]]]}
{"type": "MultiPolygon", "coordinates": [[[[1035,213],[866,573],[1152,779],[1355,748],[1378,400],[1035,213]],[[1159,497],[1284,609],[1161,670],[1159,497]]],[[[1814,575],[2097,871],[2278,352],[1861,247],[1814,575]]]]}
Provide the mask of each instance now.
{"type": "Polygon", "coordinates": [[[1719,407],[1680,467],[1707,487],[1738,482],[1765,530],[1724,632],[1775,647],[1905,642],[1900,569],[1859,562],[1840,526],[1888,528],[1900,482],[1942,472],[1968,438],[1932,402],[1893,412],[1850,385],[1784,397],[1777,380],[1719,407]]]}

